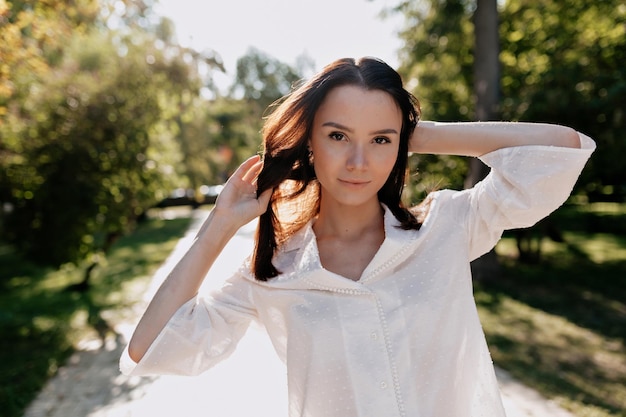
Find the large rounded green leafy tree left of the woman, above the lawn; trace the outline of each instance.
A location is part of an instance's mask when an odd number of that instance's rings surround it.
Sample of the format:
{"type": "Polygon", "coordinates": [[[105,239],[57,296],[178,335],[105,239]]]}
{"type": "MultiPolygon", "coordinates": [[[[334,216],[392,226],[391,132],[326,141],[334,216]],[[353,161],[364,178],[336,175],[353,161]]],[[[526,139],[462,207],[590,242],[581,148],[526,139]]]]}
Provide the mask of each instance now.
{"type": "Polygon", "coordinates": [[[98,254],[186,173],[176,128],[210,87],[199,74],[218,65],[166,42],[168,22],[106,29],[133,13],[149,21],[139,3],[123,2],[121,15],[110,3],[109,20],[70,31],[54,59],[34,54],[46,64],[36,79],[8,80],[16,88],[0,125],[0,203],[12,207],[0,219],[3,237],[46,264],[95,255],[85,284],[98,254]]]}

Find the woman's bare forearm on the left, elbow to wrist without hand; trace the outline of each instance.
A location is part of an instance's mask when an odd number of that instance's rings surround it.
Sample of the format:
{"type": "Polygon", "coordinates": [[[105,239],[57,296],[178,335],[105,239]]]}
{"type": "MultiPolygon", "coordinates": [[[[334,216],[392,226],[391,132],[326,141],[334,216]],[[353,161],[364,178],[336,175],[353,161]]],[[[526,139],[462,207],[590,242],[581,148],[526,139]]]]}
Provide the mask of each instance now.
{"type": "Polygon", "coordinates": [[[204,277],[237,231],[212,211],[193,244],[172,269],[148,305],[131,338],[128,353],[139,362],[174,313],[202,285],[204,277]]]}

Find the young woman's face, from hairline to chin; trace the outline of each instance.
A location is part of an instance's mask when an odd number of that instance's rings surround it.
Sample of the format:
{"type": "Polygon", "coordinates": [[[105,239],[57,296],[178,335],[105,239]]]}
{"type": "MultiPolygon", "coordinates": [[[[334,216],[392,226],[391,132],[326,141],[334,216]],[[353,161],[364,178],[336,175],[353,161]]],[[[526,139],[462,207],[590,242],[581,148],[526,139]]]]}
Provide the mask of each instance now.
{"type": "Polygon", "coordinates": [[[378,202],[398,156],[402,113],[381,90],[332,89],[313,120],[310,139],[322,201],[378,202]]]}

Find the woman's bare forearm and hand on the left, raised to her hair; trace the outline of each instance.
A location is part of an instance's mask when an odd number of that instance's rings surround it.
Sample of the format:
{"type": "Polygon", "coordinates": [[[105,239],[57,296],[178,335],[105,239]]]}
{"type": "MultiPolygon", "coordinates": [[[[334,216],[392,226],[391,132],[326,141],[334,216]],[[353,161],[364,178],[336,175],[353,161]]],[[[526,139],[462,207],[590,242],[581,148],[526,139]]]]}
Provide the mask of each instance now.
{"type": "Polygon", "coordinates": [[[239,228],[267,209],[271,190],[256,198],[258,156],[245,161],[228,180],[187,253],[172,269],[139,321],[128,353],[139,362],[172,315],[194,297],[205,275],[239,228]]]}

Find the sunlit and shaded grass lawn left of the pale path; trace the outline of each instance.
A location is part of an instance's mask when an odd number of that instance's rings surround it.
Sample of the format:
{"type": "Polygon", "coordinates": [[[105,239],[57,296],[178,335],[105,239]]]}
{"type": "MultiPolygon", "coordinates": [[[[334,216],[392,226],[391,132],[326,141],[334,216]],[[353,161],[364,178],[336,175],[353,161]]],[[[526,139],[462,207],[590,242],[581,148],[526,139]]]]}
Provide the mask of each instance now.
{"type": "Polygon", "coordinates": [[[42,268],[0,245],[0,414],[19,417],[88,332],[111,331],[115,314],[140,299],[188,218],[150,219],[120,239],[86,293],[68,290],[84,266],[42,268]]]}

